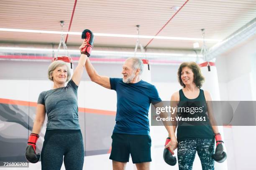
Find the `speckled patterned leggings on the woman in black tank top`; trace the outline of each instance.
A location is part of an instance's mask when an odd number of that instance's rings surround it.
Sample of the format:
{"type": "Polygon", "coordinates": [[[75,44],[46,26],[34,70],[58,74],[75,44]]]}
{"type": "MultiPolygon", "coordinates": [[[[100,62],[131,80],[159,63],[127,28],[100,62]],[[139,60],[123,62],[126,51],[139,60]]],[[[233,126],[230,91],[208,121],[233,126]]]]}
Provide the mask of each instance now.
{"type": "Polygon", "coordinates": [[[178,142],[179,170],[192,170],[195,154],[198,154],[202,170],[214,170],[214,138],[186,139],[178,142]]]}

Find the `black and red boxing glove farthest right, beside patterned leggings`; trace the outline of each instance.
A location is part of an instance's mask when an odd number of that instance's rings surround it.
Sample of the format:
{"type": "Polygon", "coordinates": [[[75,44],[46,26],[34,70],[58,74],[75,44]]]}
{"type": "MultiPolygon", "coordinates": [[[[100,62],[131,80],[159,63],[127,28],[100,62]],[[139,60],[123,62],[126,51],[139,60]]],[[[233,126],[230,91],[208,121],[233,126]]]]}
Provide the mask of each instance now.
{"type": "Polygon", "coordinates": [[[224,151],[224,142],[221,138],[220,133],[214,134],[216,141],[216,149],[215,154],[212,155],[212,159],[214,159],[218,163],[223,163],[227,159],[227,154],[224,151]]]}

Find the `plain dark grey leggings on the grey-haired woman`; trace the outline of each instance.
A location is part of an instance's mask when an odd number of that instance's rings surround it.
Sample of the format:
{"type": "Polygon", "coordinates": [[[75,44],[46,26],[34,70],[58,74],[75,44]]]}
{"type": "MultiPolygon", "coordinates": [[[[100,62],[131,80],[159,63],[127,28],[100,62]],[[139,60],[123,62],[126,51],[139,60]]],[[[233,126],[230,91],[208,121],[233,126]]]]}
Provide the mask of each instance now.
{"type": "Polygon", "coordinates": [[[84,144],[80,130],[46,130],[41,152],[42,170],[82,170],[84,144]]]}

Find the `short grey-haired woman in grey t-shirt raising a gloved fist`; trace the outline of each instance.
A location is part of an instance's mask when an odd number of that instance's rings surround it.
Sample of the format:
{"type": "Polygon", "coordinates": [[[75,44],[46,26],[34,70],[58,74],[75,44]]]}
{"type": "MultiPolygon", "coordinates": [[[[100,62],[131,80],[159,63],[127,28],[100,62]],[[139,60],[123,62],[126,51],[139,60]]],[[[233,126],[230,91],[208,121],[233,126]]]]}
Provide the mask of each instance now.
{"type": "Polygon", "coordinates": [[[93,33],[84,30],[82,38],[83,35],[85,40],[79,47],[81,56],[73,76],[71,77],[66,62],[52,62],[48,68],[48,78],[54,82],[54,86],[51,90],[41,92],[38,97],[36,118],[26,148],[26,159],[31,163],[39,160],[36,141],[47,113],[48,121],[41,152],[42,170],[60,170],[63,160],[66,170],[83,168],[84,145],[78,120],[77,88],[87,56],[89,57],[92,51],[93,33]]]}

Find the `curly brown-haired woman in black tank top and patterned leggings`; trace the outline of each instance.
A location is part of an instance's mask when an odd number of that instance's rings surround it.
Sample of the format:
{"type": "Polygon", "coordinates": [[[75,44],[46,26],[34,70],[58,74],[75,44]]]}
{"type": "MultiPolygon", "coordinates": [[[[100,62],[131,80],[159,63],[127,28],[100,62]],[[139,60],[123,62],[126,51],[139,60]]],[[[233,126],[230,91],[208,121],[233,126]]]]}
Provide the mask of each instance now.
{"type": "Polygon", "coordinates": [[[175,121],[173,128],[175,131],[177,127],[177,138],[171,137],[171,140],[177,140],[178,145],[175,147],[169,143],[169,148],[178,148],[179,170],[192,170],[196,152],[202,170],[214,170],[214,136],[219,133],[207,114],[210,93],[200,89],[205,78],[195,62],[184,62],[179,66],[178,79],[183,88],[171,99],[171,107],[179,108],[174,116],[180,119],[175,121]]]}

